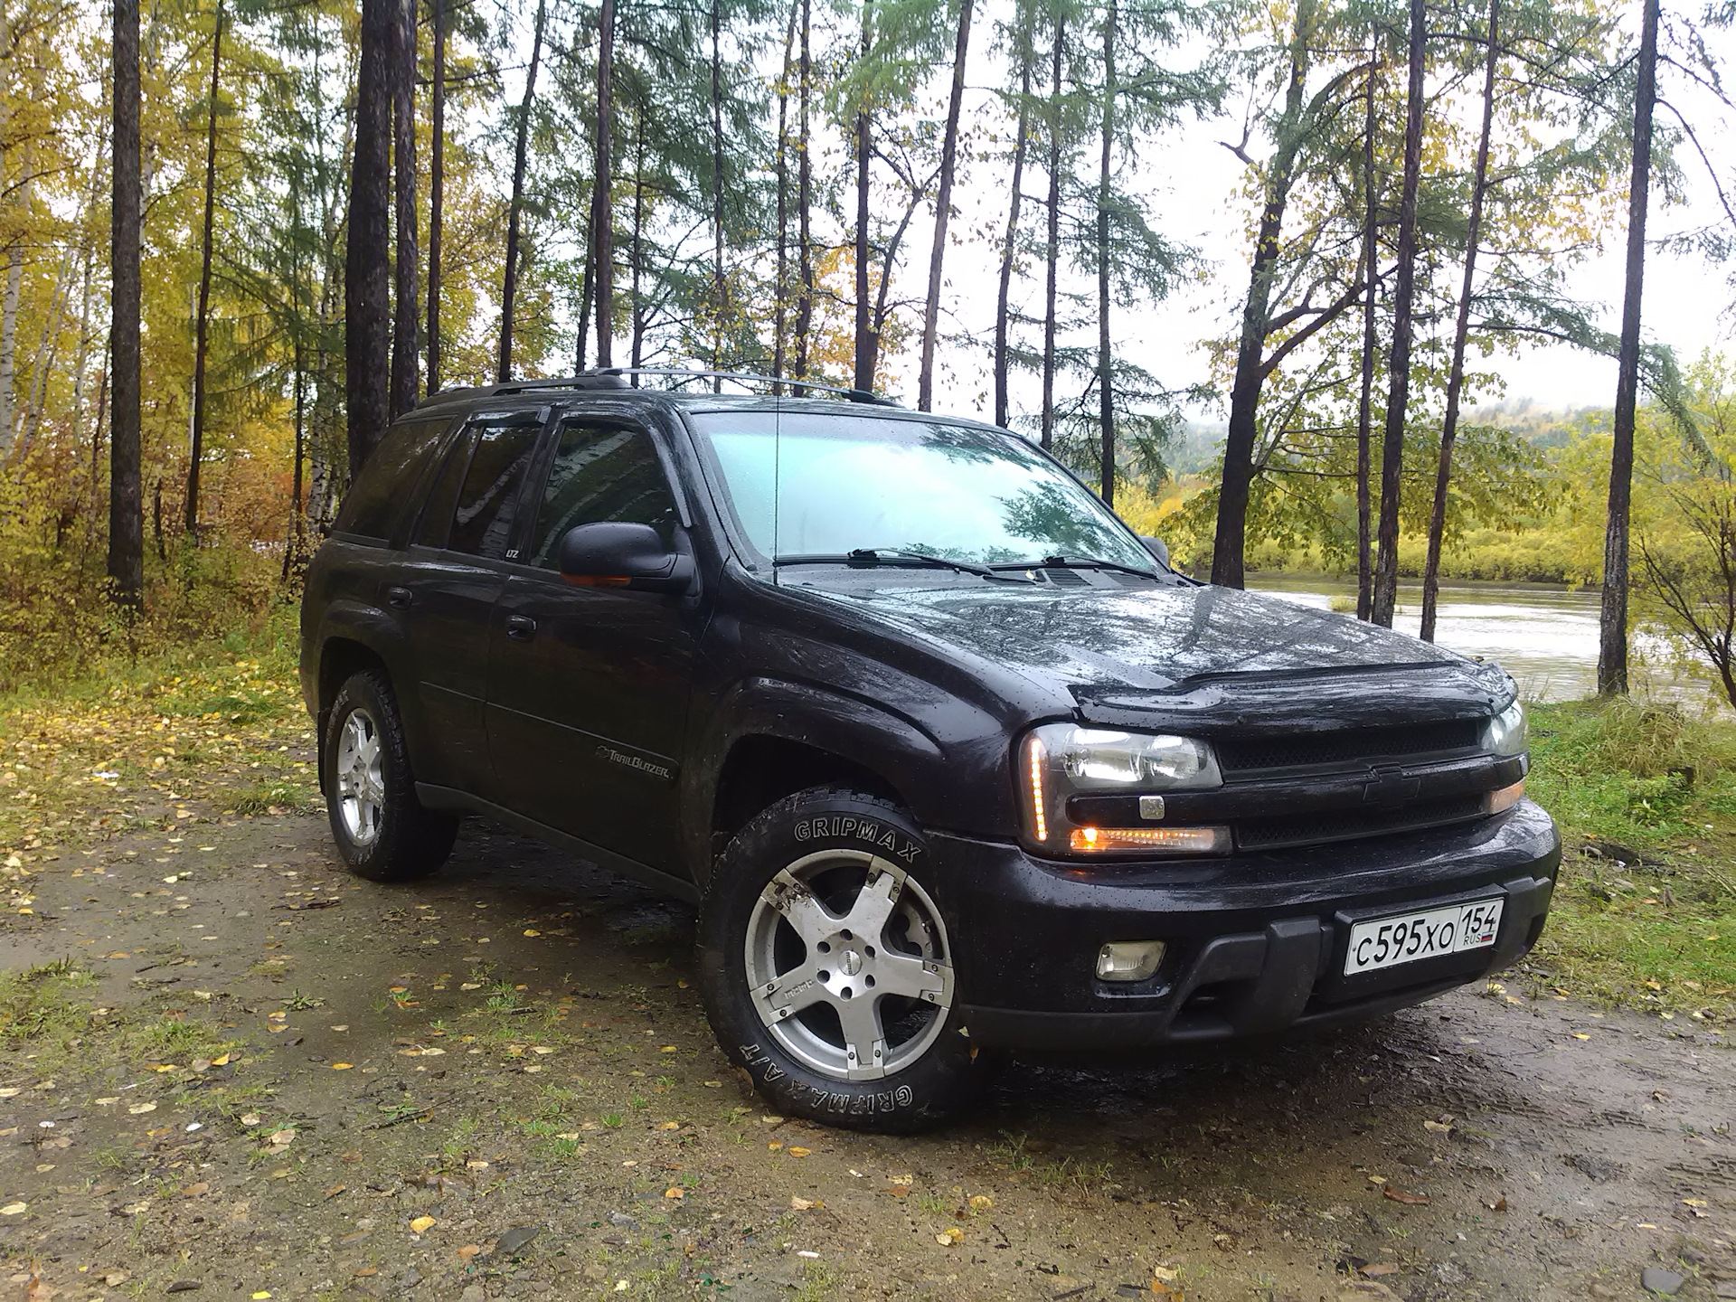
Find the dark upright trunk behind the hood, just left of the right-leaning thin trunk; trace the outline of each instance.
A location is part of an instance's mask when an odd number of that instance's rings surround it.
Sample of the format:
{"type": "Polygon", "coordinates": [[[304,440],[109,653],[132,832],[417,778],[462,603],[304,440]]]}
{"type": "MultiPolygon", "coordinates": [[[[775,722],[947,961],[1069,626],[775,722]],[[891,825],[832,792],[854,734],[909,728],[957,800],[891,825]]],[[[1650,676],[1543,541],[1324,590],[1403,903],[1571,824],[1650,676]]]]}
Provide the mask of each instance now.
{"type": "Polygon", "coordinates": [[[1387,422],[1380,443],[1380,529],[1373,621],[1392,627],[1399,592],[1399,495],[1404,470],[1404,410],[1410,403],[1411,300],[1417,288],[1417,184],[1422,179],[1422,64],[1429,31],[1424,0],[1410,0],[1410,87],[1404,102],[1404,189],[1399,196],[1397,278],[1392,286],[1392,352],[1387,422]]]}

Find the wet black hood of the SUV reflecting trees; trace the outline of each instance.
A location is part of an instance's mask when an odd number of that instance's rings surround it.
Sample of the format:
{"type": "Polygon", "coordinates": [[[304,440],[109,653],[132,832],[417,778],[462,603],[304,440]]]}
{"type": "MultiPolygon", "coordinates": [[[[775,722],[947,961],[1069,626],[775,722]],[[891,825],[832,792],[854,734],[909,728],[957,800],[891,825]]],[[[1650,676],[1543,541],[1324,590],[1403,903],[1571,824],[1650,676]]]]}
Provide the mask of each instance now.
{"type": "MultiPolygon", "coordinates": [[[[875,587],[832,592],[957,654],[1064,689],[1106,722],[1151,708],[1224,707],[1229,696],[1422,693],[1422,713],[1469,713],[1512,698],[1495,665],[1281,597],[1212,585],[1128,589],[875,587]],[[1391,682],[1387,681],[1391,679],[1391,682]],[[1354,686],[1352,686],[1354,684],[1354,686]]],[[[1250,700],[1252,703],[1252,700],[1250,700]]],[[[1264,712],[1262,712],[1264,713],[1264,712]]],[[[1358,712],[1361,713],[1361,712],[1358,712]]],[[[1408,717],[1418,717],[1413,708],[1408,717]]],[[[1328,724],[1330,726],[1330,724],[1328,724]]]]}

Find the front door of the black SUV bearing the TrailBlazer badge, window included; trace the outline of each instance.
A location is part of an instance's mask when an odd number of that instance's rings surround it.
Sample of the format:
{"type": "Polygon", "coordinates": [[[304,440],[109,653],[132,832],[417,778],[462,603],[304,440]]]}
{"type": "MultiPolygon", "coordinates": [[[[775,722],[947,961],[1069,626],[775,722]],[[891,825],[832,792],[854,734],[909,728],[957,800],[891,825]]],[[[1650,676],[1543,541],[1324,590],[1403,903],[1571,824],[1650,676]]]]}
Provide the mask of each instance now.
{"type": "Polygon", "coordinates": [[[495,606],[488,746],[500,802],[653,868],[679,863],[675,776],[708,602],[575,587],[576,524],[653,526],[687,547],[651,436],[613,417],[561,422],[536,523],[495,606]]]}

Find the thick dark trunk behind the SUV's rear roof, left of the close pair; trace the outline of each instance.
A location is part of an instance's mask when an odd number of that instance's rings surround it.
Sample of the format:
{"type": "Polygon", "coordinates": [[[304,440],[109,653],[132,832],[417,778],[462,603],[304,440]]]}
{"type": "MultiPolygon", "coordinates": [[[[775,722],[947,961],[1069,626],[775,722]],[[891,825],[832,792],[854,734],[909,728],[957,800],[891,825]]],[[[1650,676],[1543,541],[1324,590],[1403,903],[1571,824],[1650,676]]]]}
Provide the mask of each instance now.
{"type": "Polygon", "coordinates": [[[398,0],[361,0],[356,144],[344,253],[344,398],[351,479],[368,462],[391,411],[391,59],[398,0]]]}

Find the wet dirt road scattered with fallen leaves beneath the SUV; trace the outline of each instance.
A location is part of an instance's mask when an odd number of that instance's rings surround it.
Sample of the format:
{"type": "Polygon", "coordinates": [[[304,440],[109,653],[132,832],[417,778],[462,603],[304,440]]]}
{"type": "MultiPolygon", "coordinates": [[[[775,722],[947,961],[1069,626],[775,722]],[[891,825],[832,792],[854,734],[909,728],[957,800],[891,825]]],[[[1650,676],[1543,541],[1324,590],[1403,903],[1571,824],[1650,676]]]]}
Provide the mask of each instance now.
{"type": "Polygon", "coordinates": [[[634,885],[470,823],[382,887],[318,816],[161,814],[12,884],[0,965],[71,963],[5,988],[0,1297],[1736,1295],[1736,1061],[1686,1017],[1521,974],[1003,1062],[965,1123],[865,1137],[745,1092],[634,885]]]}

